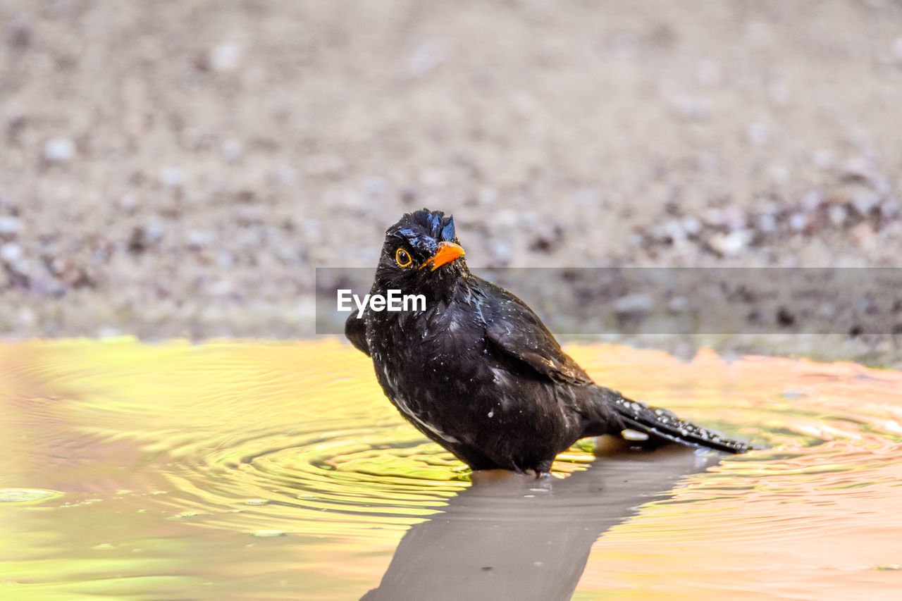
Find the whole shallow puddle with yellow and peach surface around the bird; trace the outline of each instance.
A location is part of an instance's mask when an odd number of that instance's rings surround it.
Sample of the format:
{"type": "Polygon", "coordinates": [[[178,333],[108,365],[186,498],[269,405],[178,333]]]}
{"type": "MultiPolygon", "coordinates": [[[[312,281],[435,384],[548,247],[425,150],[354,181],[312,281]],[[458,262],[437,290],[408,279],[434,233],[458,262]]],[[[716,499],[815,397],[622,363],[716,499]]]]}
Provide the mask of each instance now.
{"type": "Polygon", "coordinates": [[[897,598],[902,374],[571,346],[768,447],[471,475],[336,339],[0,347],[0,597],[897,598]]]}

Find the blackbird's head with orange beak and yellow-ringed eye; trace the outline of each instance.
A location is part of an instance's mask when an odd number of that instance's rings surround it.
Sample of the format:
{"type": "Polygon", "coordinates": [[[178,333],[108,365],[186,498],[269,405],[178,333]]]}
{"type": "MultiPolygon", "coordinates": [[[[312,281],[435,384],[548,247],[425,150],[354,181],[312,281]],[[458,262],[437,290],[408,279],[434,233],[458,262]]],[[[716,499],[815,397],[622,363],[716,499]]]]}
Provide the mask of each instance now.
{"type": "Polygon", "coordinates": [[[385,232],[376,284],[382,290],[447,298],[457,278],[467,272],[464,249],[454,231],[454,217],[423,208],[401,217],[385,232]]]}

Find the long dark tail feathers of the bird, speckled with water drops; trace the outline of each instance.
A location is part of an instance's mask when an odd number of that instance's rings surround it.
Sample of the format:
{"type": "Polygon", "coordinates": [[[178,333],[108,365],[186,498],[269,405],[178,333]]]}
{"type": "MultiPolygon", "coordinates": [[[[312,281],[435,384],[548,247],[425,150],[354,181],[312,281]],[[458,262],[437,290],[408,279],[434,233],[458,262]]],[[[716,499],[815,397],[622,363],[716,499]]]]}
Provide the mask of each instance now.
{"type": "Polygon", "coordinates": [[[632,401],[622,396],[611,399],[610,406],[620,417],[623,427],[636,430],[659,439],[672,440],[696,447],[714,448],[727,453],[744,453],[748,443],[728,439],[689,421],[680,420],[671,411],[649,407],[644,402],[632,401]]]}

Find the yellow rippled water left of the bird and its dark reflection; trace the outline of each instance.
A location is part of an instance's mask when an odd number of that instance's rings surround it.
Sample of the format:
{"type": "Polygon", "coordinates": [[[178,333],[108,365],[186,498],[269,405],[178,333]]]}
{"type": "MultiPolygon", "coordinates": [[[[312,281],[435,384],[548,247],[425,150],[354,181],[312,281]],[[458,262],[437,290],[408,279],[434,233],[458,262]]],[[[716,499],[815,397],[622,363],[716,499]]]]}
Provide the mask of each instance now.
{"type": "Polygon", "coordinates": [[[354,574],[349,551],[361,568],[376,562],[369,577],[467,476],[400,419],[352,351],[335,340],[0,347],[0,488],[62,494],[40,513],[0,504],[12,533],[0,582],[52,598],[235,578],[253,598],[253,579],[280,571],[279,590],[331,586],[336,570],[354,574]],[[203,560],[211,552],[224,563],[203,560]]]}

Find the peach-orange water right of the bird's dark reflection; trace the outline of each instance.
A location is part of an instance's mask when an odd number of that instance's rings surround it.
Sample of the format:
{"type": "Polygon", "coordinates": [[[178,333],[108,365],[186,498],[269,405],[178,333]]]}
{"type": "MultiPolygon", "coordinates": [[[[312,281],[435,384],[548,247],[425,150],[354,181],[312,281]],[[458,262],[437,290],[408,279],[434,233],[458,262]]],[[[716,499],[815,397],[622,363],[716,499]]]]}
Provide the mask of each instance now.
{"type": "Polygon", "coordinates": [[[902,374],[713,354],[658,365],[672,406],[741,399],[734,421],[778,446],[687,476],[604,533],[575,598],[899,598],[902,374]]]}

